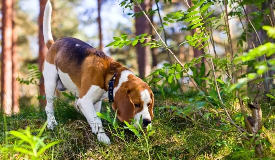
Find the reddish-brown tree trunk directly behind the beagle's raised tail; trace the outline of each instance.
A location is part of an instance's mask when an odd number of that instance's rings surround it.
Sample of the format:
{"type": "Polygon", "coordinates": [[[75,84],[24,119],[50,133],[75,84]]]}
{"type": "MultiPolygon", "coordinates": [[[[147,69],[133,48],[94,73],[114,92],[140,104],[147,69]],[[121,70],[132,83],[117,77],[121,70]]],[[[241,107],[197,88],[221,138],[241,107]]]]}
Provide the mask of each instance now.
{"type": "MultiPolygon", "coordinates": [[[[44,43],[44,37],[43,37],[43,15],[44,15],[46,2],[47,2],[47,0],[40,0],[40,13],[39,13],[39,20],[38,20],[38,22],[39,22],[39,35],[38,35],[39,58],[38,58],[38,64],[39,64],[39,71],[40,72],[42,72],[43,63],[44,63],[46,52],[47,52],[47,47],[46,47],[46,44],[44,43]]],[[[45,95],[43,76],[40,79],[39,93],[40,93],[41,96],[45,95]]],[[[39,100],[39,105],[40,105],[41,109],[44,109],[45,105],[46,105],[46,99],[40,99],[39,100]]]]}

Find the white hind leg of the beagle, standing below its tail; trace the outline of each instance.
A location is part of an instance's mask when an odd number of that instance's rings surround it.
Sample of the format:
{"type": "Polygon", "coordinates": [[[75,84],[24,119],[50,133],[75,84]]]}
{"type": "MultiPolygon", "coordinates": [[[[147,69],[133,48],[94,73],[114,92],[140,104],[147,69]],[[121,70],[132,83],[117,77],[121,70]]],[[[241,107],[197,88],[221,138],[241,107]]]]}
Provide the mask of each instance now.
{"type": "Polygon", "coordinates": [[[48,63],[45,60],[44,69],[42,73],[44,76],[44,85],[47,100],[45,111],[48,119],[48,128],[53,129],[54,126],[57,125],[57,122],[54,117],[54,92],[56,89],[58,79],[56,66],[54,64],[48,63]]]}

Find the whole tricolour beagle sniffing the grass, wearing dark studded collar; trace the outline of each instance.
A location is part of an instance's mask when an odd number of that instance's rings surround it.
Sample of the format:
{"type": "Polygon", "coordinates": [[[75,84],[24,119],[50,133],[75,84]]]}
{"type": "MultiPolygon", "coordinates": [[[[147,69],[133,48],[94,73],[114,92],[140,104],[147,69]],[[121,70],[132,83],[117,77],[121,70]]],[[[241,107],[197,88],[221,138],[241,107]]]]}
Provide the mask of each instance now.
{"type": "MultiPolygon", "coordinates": [[[[68,89],[78,98],[75,106],[87,119],[98,141],[110,144],[101,119],[101,102],[109,98],[120,121],[142,121],[143,127],[153,119],[154,94],[147,83],[101,50],[72,37],[54,42],[51,33],[51,3],[47,1],[43,17],[43,36],[48,48],[43,64],[48,128],[57,125],[54,117],[55,89],[68,89]]],[[[138,125],[135,123],[135,127],[138,125]]]]}

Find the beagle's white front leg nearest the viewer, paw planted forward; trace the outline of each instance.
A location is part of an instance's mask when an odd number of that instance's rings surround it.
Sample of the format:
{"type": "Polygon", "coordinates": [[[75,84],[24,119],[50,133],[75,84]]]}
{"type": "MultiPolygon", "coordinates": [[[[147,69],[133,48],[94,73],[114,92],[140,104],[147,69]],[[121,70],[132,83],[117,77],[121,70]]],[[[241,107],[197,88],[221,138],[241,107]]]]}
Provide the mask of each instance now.
{"type": "Polygon", "coordinates": [[[93,101],[84,96],[78,99],[77,105],[80,107],[81,112],[90,124],[92,132],[97,135],[98,141],[111,144],[109,137],[104,132],[101,119],[96,114],[93,101]]]}

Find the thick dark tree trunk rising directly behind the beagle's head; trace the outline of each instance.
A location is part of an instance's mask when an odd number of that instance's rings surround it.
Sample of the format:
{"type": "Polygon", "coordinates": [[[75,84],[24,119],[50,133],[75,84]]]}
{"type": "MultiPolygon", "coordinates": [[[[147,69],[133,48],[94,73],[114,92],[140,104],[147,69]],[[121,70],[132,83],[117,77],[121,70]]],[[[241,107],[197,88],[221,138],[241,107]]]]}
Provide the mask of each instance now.
{"type": "MultiPolygon", "coordinates": [[[[140,4],[143,10],[148,11],[150,9],[150,0],[145,0],[140,4]]],[[[140,9],[135,6],[135,12],[140,12],[140,9]]],[[[151,34],[152,27],[146,17],[142,14],[138,17],[135,17],[135,28],[136,35],[143,33],[151,34]]],[[[147,43],[148,40],[145,40],[144,43],[147,43]]],[[[150,46],[141,47],[141,43],[136,44],[137,54],[138,54],[138,70],[140,78],[145,78],[150,74],[151,65],[149,63],[149,57],[151,55],[150,46]]]]}

